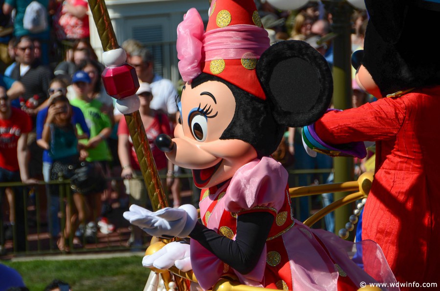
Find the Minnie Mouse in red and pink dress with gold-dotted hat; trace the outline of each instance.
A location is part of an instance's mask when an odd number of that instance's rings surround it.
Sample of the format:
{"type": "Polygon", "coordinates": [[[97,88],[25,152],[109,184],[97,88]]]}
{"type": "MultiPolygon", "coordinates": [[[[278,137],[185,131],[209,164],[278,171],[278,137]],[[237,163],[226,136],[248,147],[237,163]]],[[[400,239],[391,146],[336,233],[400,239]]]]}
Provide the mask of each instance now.
{"type": "MultiPolygon", "coordinates": [[[[191,205],[156,212],[132,206],[124,217],[149,234],[191,237],[189,246],[170,243],[143,265],[192,269],[204,290],[224,274],[280,290],[393,282],[380,257],[363,262],[379,264],[367,274],[348,257],[351,242],[293,218],[287,172],[269,157],[286,126],[308,125],[326,111],[332,79],[325,59],[306,42],[269,47],[253,0],[214,0],[209,15],[206,32],[195,9],[177,29],[186,82],[179,124],[173,140],[156,141],[174,164],[193,169],[203,188],[201,223],[191,205]]],[[[371,241],[360,247],[380,253],[371,241]]]]}

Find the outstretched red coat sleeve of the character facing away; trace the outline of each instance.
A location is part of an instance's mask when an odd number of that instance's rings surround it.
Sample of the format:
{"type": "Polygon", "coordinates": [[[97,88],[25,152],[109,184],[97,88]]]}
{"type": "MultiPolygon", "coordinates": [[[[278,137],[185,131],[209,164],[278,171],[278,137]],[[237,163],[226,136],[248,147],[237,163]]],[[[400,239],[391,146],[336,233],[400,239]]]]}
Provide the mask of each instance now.
{"type": "Polygon", "coordinates": [[[388,140],[396,136],[405,116],[401,98],[384,98],[358,108],[330,111],[315,123],[315,131],[333,145],[388,140]]]}

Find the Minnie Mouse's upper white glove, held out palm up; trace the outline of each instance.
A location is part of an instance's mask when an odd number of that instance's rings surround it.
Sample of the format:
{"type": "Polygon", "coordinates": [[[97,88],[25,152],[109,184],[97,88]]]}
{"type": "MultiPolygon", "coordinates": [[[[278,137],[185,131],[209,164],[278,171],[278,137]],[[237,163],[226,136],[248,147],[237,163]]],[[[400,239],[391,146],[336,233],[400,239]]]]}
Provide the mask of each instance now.
{"type": "Polygon", "coordinates": [[[123,216],[131,224],[159,238],[187,237],[197,223],[197,209],[190,204],[156,212],[133,204],[123,216]]]}

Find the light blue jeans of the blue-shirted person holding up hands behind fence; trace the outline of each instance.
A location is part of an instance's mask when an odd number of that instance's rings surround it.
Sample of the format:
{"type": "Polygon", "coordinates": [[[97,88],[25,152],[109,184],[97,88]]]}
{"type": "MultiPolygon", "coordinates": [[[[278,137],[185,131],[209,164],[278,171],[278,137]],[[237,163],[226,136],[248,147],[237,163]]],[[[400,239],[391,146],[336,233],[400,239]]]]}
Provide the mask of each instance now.
{"type": "MultiPolygon", "coordinates": [[[[52,163],[43,162],[43,177],[44,182],[50,181],[50,169],[52,163]]],[[[60,233],[60,220],[58,219],[58,212],[60,211],[60,197],[56,195],[50,195],[50,187],[46,185],[46,197],[47,197],[47,218],[49,225],[49,233],[52,237],[57,237],[60,233]]]]}

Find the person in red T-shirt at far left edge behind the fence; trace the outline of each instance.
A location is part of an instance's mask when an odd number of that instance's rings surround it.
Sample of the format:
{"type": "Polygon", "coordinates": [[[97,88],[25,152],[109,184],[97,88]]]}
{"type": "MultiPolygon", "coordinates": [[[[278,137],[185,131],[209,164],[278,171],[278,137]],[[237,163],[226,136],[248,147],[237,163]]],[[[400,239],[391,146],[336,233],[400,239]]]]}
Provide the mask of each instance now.
{"type": "MultiPolygon", "coordinates": [[[[37,182],[37,180],[29,178],[27,164],[27,134],[31,129],[32,123],[29,115],[20,109],[11,107],[11,102],[6,95],[5,88],[0,86],[0,183],[17,182],[20,180],[26,184],[37,182]]],[[[16,191],[16,195],[14,195],[14,191],[11,188],[0,188],[0,191],[0,195],[3,195],[2,192],[5,192],[8,198],[10,206],[9,221],[11,225],[16,224],[17,226],[18,250],[24,250],[22,192],[16,191]]],[[[1,241],[0,246],[3,245],[4,241],[1,241]]]]}

